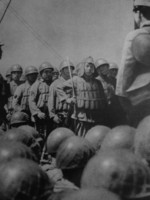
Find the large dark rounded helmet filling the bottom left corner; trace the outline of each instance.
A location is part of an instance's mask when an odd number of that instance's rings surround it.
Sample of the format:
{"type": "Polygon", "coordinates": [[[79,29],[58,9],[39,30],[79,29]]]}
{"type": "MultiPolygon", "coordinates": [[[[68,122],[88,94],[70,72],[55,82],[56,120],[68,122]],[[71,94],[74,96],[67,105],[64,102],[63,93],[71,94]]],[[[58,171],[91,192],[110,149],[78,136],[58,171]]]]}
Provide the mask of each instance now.
{"type": "Polygon", "coordinates": [[[47,200],[53,185],[35,162],[13,159],[0,166],[1,200],[47,200]]]}

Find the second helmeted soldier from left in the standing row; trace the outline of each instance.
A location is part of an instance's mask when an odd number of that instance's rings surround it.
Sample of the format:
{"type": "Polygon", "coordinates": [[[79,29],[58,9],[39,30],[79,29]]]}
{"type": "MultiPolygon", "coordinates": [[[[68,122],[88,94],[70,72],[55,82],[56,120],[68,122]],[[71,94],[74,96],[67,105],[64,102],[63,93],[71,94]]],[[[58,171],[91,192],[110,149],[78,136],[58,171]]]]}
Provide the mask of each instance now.
{"type": "Polygon", "coordinates": [[[13,107],[14,111],[26,112],[31,115],[29,109],[29,94],[31,85],[36,81],[38,70],[34,66],[28,66],[25,69],[26,82],[17,87],[14,98],[13,107]]]}

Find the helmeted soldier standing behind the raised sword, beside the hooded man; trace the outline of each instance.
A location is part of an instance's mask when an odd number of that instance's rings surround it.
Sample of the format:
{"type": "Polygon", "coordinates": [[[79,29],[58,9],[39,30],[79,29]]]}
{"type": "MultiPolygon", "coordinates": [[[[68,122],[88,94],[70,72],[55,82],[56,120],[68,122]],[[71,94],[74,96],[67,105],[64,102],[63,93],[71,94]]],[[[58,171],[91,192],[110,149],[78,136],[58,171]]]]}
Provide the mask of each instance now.
{"type": "Polygon", "coordinates": [[[50,86],[48,109],[50,118],[54,122],[53,128],[62,126],[68,127],[69,125],[67,119],[69,117],[68,114],[71,111],[71,107],[66,102],[60,102],[59,95],[57,93],[57,86],[62,85],[66,80],[70,79],[69,67],[72,72],[74,70],[73,63],[71,61],[63,60],[60,63],[60,77],[50,86]]]}

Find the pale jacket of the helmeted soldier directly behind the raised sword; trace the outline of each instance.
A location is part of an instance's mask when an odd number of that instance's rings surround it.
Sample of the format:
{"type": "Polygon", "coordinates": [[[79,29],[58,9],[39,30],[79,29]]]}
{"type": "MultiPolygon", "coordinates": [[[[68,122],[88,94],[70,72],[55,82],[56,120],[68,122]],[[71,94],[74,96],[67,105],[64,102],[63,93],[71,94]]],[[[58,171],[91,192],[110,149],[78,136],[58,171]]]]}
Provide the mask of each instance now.
{"type": "Polygon", "coordinates": [[[53,118],[55,115],[61,113],[65,115],[67,111],[69,111],[70,106],[66,102],[62,102],[59,99],[59,95],[57,94],[57,86],[62,85],[66,80],[60,76],[59,79],[55,80],[50,85],[49,90],[49,99],[48,99],[48,110],[50,118],[53,118]]]}

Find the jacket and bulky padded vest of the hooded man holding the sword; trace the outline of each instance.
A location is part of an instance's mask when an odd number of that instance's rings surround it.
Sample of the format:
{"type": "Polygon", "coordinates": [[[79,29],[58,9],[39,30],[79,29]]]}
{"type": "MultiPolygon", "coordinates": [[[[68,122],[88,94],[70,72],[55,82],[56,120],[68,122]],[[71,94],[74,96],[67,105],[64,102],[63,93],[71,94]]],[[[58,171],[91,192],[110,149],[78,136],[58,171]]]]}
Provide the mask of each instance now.
{"type": "Polygon", "coordinates": [[[68,98],[64,90],[65,88],[72,88],[72,81],[76,98],[72,118],[91,123],[98,122],[106,106],[102,84],[95,78],[87,79],[74,76],[72,80],[69,79],[63,85],[57,86],[61,101],[68,98]]]}

